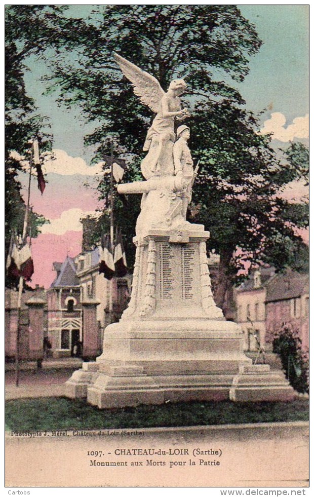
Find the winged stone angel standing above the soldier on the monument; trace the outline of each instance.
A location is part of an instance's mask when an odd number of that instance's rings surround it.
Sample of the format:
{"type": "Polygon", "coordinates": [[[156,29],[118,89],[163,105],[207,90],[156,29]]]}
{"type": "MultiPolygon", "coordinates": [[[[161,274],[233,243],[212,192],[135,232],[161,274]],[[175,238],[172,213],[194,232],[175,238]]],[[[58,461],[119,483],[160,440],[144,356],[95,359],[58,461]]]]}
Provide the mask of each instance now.
{"type": "Polygon", "coordinates": [[[152,176],[174,175],[173,144],[175,142],[174,120],[183,121],[189,116],[187,109],[181,110],[180,96],[186,90],[184,80],[174,80],[164,92],[159,82],[121,55],[113,54],[124,75],[134,86],[134,93],[143,104],[156,113],[150,126],[143,150],[148,150],[141,163],[145,179],[152,176]]]}

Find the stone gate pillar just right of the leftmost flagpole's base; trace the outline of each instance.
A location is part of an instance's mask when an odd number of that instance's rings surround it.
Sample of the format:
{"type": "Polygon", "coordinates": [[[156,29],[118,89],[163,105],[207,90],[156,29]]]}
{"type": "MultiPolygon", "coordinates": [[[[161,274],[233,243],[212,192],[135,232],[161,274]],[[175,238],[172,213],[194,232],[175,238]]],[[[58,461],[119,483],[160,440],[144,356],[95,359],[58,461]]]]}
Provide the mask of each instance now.
{"type": "Polygon", "coordinates": [[[27,300],[28,307],[28,359],[44,358],[44,307],[45,300],[31,297],[27,300]]]}

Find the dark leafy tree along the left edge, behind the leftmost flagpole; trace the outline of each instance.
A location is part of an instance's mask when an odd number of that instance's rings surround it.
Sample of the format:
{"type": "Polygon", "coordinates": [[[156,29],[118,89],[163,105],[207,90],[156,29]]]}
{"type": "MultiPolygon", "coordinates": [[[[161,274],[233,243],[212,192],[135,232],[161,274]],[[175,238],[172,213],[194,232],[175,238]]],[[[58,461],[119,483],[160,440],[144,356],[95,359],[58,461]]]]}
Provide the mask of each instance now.
{"type": "MultiPolygon", "coordinates": [[[[5,242],[7,257],[11,235],[22,233],[25,203],[17,174],[21,162],[12,157],[15,150],[27,157],[31,140],[47,120],[37,113],[35,103],[27,95],[24,83],[27,60],[41,57],[49,47],[58,49],[66,43],[70,21],[63,17],[66,7],[49,5],[6,6],[5,24],[5,242]],[[63,35],[61,36],[61,33],[63,35]]],[[[73,27],[71,23],[71,27],[73,27]]],[[[41,150],[51,148],[51,136],[41,133],[41,150]]],[[[43,216],[30,212],[29,228],[32,237],[46,222],[43,216]]],[[[28,233],[29,234],[29,233],[28,233]]],[[[7,285],[14,282],[7,281],[7,285]]]]}

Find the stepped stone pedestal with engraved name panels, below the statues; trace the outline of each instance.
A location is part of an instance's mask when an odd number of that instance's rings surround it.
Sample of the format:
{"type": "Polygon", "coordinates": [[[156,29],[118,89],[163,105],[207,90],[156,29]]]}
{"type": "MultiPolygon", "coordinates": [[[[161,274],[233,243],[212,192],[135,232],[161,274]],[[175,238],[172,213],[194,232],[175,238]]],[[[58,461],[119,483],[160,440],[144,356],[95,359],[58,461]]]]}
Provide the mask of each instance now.
{"type": "Polygon", "coordinates": [[[102,355],[67,381],[69,397],[87,395],[101,409],[291,398],[293,390],[281,375],[254,369],[243,352],[240,327],[225,321],[216,307],[208,237],[204,226],[185,222],[182,229],[151,229],[135,239],[129,307],[119,323],[105,329],[102,355]]]}

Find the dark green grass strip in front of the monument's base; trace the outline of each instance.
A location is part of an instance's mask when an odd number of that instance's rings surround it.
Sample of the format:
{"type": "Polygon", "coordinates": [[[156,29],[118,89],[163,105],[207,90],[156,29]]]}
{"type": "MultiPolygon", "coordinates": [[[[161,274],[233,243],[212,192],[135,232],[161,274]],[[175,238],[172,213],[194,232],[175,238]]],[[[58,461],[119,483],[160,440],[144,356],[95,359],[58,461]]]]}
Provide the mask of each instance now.
{"type": "Polygon", "coordinates": [[[100,410],[64,397],[6,402],[8,430],[154,428],[308,420],[309,402],[180,402],[100,410]]]}

